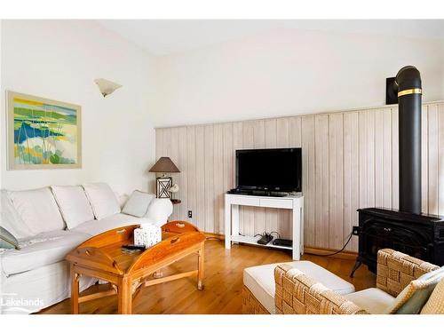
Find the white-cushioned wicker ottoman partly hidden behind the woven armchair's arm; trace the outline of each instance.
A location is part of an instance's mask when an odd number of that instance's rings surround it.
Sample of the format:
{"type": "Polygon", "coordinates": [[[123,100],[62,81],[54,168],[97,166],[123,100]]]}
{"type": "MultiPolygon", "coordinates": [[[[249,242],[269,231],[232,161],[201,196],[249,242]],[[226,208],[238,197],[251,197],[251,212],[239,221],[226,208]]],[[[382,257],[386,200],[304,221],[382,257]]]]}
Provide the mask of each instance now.
{"type": "MultiPolygon", "coordinates": [[[[319,281],[326,288],[332,289],[338,294],[346,295],[354,292],[352,283],[341,279],[311,261],[293,261],[285,264],[297,268],[314,281],[319,281]]],[[[274,268],[278,265],[281,264],[254,266],[243,270],[243,284],[269,313],[276,312],[274,307],[274,268]]]]}

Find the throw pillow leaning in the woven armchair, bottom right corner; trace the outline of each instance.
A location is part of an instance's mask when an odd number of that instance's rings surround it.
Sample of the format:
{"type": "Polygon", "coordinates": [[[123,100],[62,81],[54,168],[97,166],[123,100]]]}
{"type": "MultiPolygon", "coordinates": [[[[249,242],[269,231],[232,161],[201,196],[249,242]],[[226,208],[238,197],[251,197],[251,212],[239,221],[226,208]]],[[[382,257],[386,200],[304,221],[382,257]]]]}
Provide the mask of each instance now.
{"type": "Polygon", "coordinates": [[[444,278],[444,267],[421,275],[402,289],[385,313],[416,314],[421,311],[436,285],[444,278]]]}

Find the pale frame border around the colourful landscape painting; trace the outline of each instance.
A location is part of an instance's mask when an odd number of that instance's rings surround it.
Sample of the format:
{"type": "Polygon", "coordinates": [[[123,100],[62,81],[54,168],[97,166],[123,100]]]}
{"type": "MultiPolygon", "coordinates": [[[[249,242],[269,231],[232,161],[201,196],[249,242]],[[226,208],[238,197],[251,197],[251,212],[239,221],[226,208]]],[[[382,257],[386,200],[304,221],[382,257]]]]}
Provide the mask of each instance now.
{"type": "MultiPolygon", "coordinates": [[[[6,91],[7,101],[7,170],[51,170],[51,169],[81,169],[82,168],[82,107],[76,104],[61,102],[54,99],[28,95],[16,91],[6,91]],[[28,101],[42,103],[53,107],[64,107],[75,110],[75,163],[16,163],[15,161],[15,141],[14,141],[14,100],[25,99],[28,101]]],[[[48,138],[48,137],[47,137],[48,138]]]]}

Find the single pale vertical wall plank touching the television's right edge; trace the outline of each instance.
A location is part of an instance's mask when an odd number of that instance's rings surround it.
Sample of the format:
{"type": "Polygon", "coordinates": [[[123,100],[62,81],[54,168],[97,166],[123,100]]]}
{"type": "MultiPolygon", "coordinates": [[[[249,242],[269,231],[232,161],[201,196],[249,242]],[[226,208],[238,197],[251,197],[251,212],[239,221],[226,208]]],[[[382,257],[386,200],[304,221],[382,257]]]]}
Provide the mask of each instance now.
{"type": "Polygon", "coordinates": [[[301,118],[302,193],[304,194],[304,242],[314,246],[315,230],[315,172],[314,116],[301,118]]]}

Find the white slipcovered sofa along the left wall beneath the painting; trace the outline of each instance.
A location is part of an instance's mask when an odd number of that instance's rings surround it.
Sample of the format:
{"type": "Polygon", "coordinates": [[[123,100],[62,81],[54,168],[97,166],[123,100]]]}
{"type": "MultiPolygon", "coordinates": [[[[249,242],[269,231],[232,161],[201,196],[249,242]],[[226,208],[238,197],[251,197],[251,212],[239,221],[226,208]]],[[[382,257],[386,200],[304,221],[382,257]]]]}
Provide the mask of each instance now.
{"type": "MultiPolygon", "coordinates": [[[[145,215],[134,217],[121,212],[124,201],[100,183],[2,190],[0,226],[18,239],[20,250],[0,249],[0,313],[35,313],[70,297],[64,259],[70,250],[116,227],[162,226],[172,212],[170,200],[153,195],[145,215]]],[[[80,287],[96,281],[83,277],[80,287]]]]}

